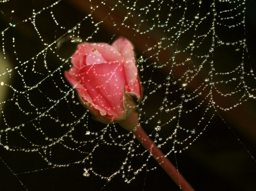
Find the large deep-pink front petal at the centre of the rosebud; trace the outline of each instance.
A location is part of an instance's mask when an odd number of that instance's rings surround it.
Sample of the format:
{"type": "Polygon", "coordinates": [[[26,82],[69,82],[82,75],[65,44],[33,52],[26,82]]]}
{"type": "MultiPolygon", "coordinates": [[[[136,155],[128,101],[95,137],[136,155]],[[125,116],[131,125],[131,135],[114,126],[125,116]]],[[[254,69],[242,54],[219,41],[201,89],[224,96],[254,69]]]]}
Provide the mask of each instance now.
{"type": "Polygon", "coordinates": [[[118,62],[84,66],[78,72],[79,82],[86,88],[95,105],[99,105],[108,116],[124,117],[124,85],[127,82],[124,65],[118,62]]]}

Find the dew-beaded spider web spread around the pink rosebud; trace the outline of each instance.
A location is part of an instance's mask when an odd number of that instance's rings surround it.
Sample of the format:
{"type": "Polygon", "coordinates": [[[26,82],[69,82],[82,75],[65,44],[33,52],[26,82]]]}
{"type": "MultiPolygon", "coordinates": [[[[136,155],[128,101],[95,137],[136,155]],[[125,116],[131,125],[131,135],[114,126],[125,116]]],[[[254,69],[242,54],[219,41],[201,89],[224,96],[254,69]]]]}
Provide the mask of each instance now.
{"type": "Polygon", "coordinates": [[[26,1],[20,17],[18,2],[0,1],[0,92],[6,92],[0,146],[39,154],[49,165],[15,173],[18,178],[81,164],[81,176],[110,181],[121,174],[130,183],[158,167],[148,165],[150,154],[134,135],[93,121],[77,100],[64,77],[77,43],[125,36],[134,44],[145,89],[140,123],[166,157],[202,137],[217,112],[255,103],[255,62],[246,31],[251,1],[84,1],[78,6],[86,15],[67,13],[69,21],[62,11],[66,3],[26,1]],[[31,40],[22,42],[24,33],[31,40]],[[122,153],[111,174],[93,165],[100,148],[122,153]]]}

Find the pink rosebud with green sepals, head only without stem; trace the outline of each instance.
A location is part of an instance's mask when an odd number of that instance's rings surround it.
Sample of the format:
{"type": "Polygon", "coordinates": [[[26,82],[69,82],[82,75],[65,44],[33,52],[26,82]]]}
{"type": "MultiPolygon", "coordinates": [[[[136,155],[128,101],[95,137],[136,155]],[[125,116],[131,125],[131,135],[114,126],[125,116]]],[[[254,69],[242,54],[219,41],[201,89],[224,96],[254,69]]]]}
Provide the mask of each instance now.
{"type": "Polygon", "coordinates": [[[126,119],[136,110],[141,85],[131,42],[81,43],[65,72],[79,100],[102,123],[126,119]]]}

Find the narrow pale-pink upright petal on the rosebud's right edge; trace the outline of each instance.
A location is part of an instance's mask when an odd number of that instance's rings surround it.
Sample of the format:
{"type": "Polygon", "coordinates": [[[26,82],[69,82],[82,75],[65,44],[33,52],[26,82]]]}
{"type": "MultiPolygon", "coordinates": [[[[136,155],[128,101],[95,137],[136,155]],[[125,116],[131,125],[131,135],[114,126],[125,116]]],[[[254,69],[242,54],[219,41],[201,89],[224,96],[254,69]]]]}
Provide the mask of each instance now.
{"type": "Polygon", "coordinates": [[[138,75],[138,69],[136,67],[136,61],[134,59],[133,46],[131,42],[129,42],[129,40],[125,39],[124,37],[118,38],[112,44],[112,46],[115,47],[118,52],[120,52],[124,59],[125,75],[129,87],[132,89],[138,75]]]}

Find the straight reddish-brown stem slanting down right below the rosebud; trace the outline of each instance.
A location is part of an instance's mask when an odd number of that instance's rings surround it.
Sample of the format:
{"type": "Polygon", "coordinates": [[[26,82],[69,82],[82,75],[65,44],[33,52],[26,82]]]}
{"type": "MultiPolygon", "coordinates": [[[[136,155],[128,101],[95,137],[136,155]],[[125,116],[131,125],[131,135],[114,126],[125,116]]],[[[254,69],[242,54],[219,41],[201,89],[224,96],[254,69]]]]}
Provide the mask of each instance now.
{"type": "Polygon", "coordinates": [[[162,151],[157,148],[156,144],[148,137],[141,126],[137,126],[135,130],[132,130],[132,134],[134,134],[137,139],[143,144],[143,146],[152,153],[153,157],[156,161],[163,167],[164,171],[169,174],[169,176],[177,183],[183,191],[192,191],[194,190],[191,185],[183,178],[183,176],[177,171],[174,165],[168,160],[168,158],[164,157],[162,151]]]}

